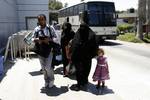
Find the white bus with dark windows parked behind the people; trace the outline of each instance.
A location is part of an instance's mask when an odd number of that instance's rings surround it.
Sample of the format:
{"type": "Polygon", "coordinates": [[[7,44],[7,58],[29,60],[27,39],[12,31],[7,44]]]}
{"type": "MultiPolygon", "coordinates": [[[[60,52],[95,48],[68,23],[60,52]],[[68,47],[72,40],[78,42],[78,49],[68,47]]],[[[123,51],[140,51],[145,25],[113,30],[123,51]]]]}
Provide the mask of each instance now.
{"type": "Polygon", "coordinates": [[[72,24],[72,29],[77,31],[84,21],[95,32],[98,40],[116,39],[116,11],[114,2],[88,1],[62,8],[59,10],[58,23],[65,21],[72,24]]]}

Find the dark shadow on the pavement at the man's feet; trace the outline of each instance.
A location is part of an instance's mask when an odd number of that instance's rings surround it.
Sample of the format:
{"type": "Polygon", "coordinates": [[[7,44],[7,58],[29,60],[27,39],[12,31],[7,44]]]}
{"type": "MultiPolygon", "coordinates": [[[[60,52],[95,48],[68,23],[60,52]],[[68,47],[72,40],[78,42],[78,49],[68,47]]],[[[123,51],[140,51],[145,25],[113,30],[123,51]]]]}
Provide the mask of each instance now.
{"type": "Polygon", "coordinates": [[[52,88],[49,89],[45,88],[41,89],[41,93],[45,93],[47,96],[59,96],[66,92],[68,92],[68,86],[61,86],[60,88],[53,86],[52,88]]]}

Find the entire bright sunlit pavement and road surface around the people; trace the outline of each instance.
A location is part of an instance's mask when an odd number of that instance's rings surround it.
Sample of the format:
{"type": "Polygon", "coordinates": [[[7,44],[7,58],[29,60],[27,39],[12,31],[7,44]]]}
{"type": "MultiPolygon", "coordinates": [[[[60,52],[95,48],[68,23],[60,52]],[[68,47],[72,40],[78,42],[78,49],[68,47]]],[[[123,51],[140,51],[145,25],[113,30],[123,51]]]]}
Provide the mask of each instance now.
{"type": "Polygon", "coordinates": [[[97,91],[92,81],[96,60],[93,59],[87,91],[72,91],[69,87],[76,83],[72,78],[61,75],[62,65],[55,68],[55,85],[43,91],[43,75],[38,72],[37,58],[29,61],[18,59],[8,65],[6,76],[0,83],[2,100],[149,100],[150,96],[150,46],[121,41],[109,41],[102,45],[108,56],[111,79],[107,88],[97,91]]]}

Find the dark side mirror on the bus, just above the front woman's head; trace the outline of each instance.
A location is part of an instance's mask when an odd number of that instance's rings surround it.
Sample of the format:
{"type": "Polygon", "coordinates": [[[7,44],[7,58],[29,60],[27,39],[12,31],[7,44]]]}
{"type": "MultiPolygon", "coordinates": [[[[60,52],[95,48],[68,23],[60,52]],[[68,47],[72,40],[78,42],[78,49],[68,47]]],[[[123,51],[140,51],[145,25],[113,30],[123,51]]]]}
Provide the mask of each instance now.
{"type": "Polygon", "coordinates": [[[81,23],[86,23],[88,24],[88,12],[83,11],[79,13],[79,20],[81,23]]]}

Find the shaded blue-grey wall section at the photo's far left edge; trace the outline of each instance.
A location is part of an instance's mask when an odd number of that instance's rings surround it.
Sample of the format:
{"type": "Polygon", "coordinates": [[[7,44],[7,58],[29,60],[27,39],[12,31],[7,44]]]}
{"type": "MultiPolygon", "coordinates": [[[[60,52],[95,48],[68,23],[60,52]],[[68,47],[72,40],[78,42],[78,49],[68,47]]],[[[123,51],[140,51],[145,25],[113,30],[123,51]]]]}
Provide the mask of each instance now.
{"type": "Polygon", "coordinates": [[[17,32],[16,0],[0,0],[0,52],[8,37],[17,32]]]}

